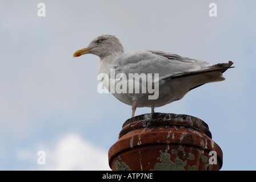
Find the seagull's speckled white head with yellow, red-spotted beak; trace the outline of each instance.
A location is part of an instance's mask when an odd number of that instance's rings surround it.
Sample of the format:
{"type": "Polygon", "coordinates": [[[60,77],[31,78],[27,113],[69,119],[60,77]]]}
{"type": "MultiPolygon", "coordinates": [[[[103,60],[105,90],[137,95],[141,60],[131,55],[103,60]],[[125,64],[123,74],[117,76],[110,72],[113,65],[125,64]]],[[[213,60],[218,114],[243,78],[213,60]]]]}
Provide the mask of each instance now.
{"type": "Polygon", "coordinates": [[[112,55],[113,53],[123,53],[124,49],[118,38],[114,35],[99,35],[94,38],[87,47],[75,51],[73,57],[91,53],[100,58],[112,55]]]}

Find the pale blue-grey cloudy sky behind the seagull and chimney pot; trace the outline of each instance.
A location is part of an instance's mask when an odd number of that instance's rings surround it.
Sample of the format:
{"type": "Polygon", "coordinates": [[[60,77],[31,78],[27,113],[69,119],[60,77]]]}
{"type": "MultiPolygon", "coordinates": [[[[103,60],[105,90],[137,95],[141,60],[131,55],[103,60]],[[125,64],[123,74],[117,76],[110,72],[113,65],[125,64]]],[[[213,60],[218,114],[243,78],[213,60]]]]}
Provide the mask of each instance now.
{"type": "Polygon", "coordinates": [[[225,81],[155,111],[205,121],[223,151],[221,170],[256,170],[255,7],[250,0],[1,1],[0,170],[110,170],[107,152],[131,106],[97,92],[99,57],[73,58],[101,34],[117,36],[126,53],[234,61],[225,81]],[[212,2],[217,16],[209,16],[212,2]]]}

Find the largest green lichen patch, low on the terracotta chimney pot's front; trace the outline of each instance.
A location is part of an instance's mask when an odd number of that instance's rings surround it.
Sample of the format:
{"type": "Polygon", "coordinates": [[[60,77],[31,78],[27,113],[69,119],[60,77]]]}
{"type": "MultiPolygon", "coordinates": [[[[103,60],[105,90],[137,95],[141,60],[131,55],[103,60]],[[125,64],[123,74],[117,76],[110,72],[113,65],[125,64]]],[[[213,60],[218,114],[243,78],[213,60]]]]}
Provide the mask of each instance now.
{"type": "MultiPolygon", "coordinates": [[[[171,150],[172,153],[173,153],[173,151],[174,150],[171,150]]],[[[184,167],[187,165],[187,160],[183,161],[183,160],[179,159],[179,156],[177,156],[177,158],[175,158],[175,161],[172,162],[171,156],[170,156],[170,154],[167,153],[167,150],[165,150],[165,152],[160,150],[160,152],[161,152],[160,161],[162,163],[155,164],[155,168],[151,169],[151,170],[154,170],[154,171],[185,171],[184,167]]],[[[177,151],[176,151],[176,153],[177,153],[177,151]]]]}

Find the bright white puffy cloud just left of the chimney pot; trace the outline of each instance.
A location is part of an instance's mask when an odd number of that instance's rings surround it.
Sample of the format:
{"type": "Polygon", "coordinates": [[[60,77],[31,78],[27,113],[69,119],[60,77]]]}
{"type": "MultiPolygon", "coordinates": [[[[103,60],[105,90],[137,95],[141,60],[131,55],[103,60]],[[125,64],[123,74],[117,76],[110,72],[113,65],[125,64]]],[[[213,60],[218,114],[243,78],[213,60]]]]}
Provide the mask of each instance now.
{"type": "Polygon", "coordinates": [[[53,151],[46,152],[45,167],[47,170],[110,170],[107,155],[107,151],[79,135],[68,134],[59,140],[53,151]]]}

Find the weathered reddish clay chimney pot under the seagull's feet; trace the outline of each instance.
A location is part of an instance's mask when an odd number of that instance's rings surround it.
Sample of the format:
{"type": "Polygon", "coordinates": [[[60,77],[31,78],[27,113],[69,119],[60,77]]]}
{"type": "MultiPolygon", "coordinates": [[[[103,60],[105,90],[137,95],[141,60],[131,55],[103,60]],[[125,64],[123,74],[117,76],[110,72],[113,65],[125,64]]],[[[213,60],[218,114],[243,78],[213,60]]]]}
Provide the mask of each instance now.
{"type": "Polygon", "coordinates": [[[113,170],[219,170],[221,148],[205,122],[190,115],[153,113],[128,119],[109,150],[113,170]],[[210,164],[215,151],[216,164],[210,164]]]}

